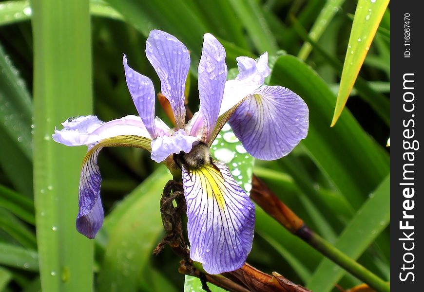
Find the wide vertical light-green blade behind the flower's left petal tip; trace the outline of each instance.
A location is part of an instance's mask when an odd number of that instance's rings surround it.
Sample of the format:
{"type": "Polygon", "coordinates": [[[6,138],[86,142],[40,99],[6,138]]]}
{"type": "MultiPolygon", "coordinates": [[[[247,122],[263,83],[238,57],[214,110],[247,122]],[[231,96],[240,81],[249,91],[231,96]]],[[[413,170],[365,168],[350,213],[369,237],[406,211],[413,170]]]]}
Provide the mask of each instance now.
{"type": "Polygon", "coordinates": [[[34,194],[44,292],[93,289],[93,241],[78,234],[80,163],[85,147],[51,138],[70,116],[91,113],[87,0],[32,2],[34,36],[34,194]],[[77,19],[77,21],[76,21],[77,19]]]}

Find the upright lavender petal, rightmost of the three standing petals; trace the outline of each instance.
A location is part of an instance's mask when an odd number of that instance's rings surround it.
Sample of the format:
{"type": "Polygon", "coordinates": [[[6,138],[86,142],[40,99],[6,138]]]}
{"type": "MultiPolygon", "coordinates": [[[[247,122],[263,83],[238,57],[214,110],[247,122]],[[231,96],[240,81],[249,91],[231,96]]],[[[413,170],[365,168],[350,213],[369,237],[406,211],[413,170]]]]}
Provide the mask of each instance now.
{"type": "Polygon", "coordinates": [[[199,98],[200,115],[204,120],[203,139],[207,141],[215,127],[222,102],[227,65],[225,64],[225,49],[211,34],[203,36],[203,50],[199,67],[199,98]]]}

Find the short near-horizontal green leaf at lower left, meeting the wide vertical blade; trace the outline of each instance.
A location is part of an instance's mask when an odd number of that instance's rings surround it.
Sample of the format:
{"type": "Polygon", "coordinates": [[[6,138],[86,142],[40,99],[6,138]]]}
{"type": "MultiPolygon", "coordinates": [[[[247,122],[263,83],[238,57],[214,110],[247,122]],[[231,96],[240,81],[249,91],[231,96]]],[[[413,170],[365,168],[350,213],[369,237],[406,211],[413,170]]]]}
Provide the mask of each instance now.
{"type": "Polygon", "coordinates": [[[1,242],[0,264],[33,272],[39,270],[37,251],[1,242]]]}

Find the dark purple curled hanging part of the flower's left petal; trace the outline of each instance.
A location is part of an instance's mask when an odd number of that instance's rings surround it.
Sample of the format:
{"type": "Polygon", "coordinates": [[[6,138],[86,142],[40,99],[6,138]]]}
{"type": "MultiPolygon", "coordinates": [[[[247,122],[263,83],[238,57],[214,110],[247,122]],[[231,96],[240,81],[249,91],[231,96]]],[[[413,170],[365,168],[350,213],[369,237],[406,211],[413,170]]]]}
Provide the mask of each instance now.
{"type": "Polygon", "coordinates": [[[97,156],[102,147],[92,148],[87,152],[82,164],[79,178],[79,211],[77,230],[88,238],[96,237],[103,224],[103,208],[100,200],[100,170],[97,156]]]}

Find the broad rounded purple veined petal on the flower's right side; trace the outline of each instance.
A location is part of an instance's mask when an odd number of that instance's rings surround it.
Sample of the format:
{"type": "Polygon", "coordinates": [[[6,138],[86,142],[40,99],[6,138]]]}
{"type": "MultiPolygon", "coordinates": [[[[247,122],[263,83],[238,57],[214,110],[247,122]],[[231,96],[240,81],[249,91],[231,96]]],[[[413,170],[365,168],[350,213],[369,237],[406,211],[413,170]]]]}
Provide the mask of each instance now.
{"type": "Polygon", "coordinates": [[[293,91],[264,86],[249,96],[230,118],[235,136],[255,158],[281,158],[308,133],[309,110],[293,91]]]}

